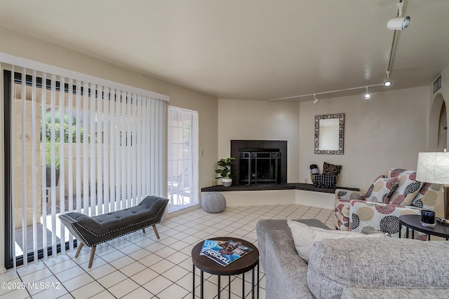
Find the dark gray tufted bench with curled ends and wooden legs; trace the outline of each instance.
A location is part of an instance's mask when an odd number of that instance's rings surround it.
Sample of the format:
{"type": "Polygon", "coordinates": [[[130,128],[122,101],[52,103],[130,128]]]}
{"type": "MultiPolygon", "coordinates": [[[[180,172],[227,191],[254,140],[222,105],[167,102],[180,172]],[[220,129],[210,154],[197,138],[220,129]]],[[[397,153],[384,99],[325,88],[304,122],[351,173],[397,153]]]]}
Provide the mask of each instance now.
{"type": "Polygon", "coordinates": [[[143,230],[152,226],[156,237],[159,233],[156,224],[161,222],[168,205],[166,198],[147,196],[135,207],[112,211],[98,216],[88,216],[79,212],[69,212],[59,216],[67,230],[79,240],[75,258],[79,256],[83,245],[92,247],[88,267],[92,267],[95,249],[98,244],[127,235],[130,232],[143,230]]]}

